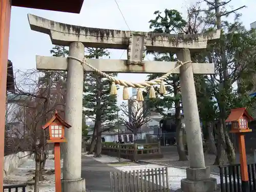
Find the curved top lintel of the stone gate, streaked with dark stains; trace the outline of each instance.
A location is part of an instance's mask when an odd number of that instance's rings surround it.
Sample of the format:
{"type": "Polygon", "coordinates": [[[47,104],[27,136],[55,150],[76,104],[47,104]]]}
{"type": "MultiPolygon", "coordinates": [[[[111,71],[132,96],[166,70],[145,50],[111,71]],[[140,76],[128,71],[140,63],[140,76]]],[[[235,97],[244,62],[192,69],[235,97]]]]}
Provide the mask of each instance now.
{"type": "Polygon", "coordinates": [[[144,35],[146,50],[177,51],[187,48],[191,51],[205,49],[208,40],[218,39],[220,31],[203,34],[160,34],[152,32],[121,31],[88,28],[54,22],[53,20],[28,14],[30,28],[50,35],[52,44],[69,46],[71,42],[82,42],[85,47],[127,49],[131,34],[144,35]]]}

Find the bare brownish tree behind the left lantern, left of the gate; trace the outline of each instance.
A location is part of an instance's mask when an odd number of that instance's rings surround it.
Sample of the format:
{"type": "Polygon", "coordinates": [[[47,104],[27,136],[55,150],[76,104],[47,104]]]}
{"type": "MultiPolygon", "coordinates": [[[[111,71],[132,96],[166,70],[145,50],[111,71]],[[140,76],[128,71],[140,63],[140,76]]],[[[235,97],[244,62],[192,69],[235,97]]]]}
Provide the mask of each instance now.
{"type": "Polygon", "coordinates": [[[59,75],[54,72],[38,72],[29,70],[16,73],[16,97],[26,96],[27,99],[16,103],[19,105],[15,118],[24,124],[22,136],[23,151],[30,151],[35,159],[35,186],[34,191],[38,192],[39,181],[42,177],[45,163],[48,158],[49,133],[41,127],[49,120],[54,111],[63,112],[63,95],[65,90],[59,75]]]}

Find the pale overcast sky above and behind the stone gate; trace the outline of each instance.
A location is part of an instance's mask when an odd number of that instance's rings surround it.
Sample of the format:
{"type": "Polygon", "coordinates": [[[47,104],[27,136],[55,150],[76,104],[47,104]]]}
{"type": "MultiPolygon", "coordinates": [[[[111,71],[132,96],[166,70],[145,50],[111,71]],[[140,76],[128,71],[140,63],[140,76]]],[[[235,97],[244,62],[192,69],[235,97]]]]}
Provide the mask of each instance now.
{"type": "MultiPolygon", "coordinates": [[[[149,31],[148,21],[154,19],[154,11],[176,9],[186,18],[186,8],[196,0],[117,0],[129,28],[132,31],[149,31]]],[[[246,5],[241,10],[242,20],[246,28],[256,21],[255,0],[232,0],[233,8],[246,5]]],[[[84,0],[80,14],[36,10],[12,7],[11,31],[9,43],[9,59],[13,62],[14,70],[35,68],[35,55],[50,56],[53,47],[49,35],[32,31],[29,27],[27,14],[45,17],[57,22],[78,26],[129,30],[114,0],[84,0]]],[[[119,59],[122,50],[110,50],[112,59],[119,59]]],[[[122,55],[126,59],[126,52],[122,55]]],[[[145,75],[119,74],[123,80],[141,82],[145,75]]],[[[131,90],[130,90],[131,92],[131,90]]],[[[119,104],[122,102],[122,89],[119,90],[119,104]]]]}

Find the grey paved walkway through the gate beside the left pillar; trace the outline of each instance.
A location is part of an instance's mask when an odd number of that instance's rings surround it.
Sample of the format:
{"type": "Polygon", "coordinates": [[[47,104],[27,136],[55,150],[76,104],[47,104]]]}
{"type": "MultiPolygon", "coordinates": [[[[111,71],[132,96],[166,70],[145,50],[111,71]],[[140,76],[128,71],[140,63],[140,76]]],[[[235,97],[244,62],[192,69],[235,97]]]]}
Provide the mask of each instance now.
{"type": "Polygon", "coordinates": [[[86,188],[92,192],[110,191],[110,172],[121,172],[112,166],[96,161],[91,157],[82,157],[82,178],[86,179],[86,188]]]}

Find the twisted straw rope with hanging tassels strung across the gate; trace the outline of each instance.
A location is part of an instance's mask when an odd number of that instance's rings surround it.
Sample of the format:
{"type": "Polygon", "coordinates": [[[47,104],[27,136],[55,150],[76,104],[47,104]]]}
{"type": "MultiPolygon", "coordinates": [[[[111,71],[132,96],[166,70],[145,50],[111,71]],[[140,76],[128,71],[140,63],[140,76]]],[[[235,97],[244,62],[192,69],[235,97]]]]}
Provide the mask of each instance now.
{"type": "Polygon", "coordinates": [[[143,101],[143,95],[142,95],[142,91],[140,90],[141,88],[145,88],[145,87],[150,87],[150,93],[149,96],[150,98],[156,98],[156,94],[155,94],[155,90],[153,85],[155,84],[159,84],[160,83],[160,94],[166,94],[166,89],[165,89],[165,85],[163,80],[166,79],[170,74],[172,74],[173,72],[175,72],[176,70],[178,70],[182,65],[185,65],[188,62],[192,62],[191,60],[186,61],[186,62],[182,62],[180,60],[177,61],[177,63],[179,64],[177,67],[175,67],[174,69],[170,70],[169,72],[167,72],[166,74],[162,75],[161,77],[158,77],[156,79],[150,80],[150,81],[144,81],[144,82],[140,82],[140,83],[133,83],[133,82],[129,82],[129,81],[125,81],[125,80],[120,80],[120,79],[116,79],[98,69],[96,69],[95,67],[93,67],[92,65],[90,65],[90,63],[86,62],[86,58],[84,58],[83,60],[80,60],[76,57],[72,57],[72,56],[68,56],[68,58],[72,58],[75,60],[78,60],[82,67],[83,70],[86,71],[85,66],[88,66],[89,68],[91,68],[92,70],[94,70],[95,72],[97,72],[99,75],[101,75],[102,77],[108,78],[110,81],[112,81],[112,85],[111,85],[111,93],[112,95],[116,95],[117,94],[117,88],[116,88],[116,84],[119,84],[120,86],[124,86],[123,88],[123,99],[127,100],[129,99],[129,93],[127,91],[127,88],[132,87],[132,88],[138,88],[138,92],[137,92],[137,100],[138,101],[143,101]]]}

